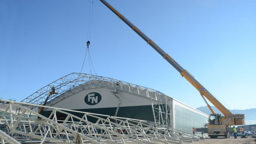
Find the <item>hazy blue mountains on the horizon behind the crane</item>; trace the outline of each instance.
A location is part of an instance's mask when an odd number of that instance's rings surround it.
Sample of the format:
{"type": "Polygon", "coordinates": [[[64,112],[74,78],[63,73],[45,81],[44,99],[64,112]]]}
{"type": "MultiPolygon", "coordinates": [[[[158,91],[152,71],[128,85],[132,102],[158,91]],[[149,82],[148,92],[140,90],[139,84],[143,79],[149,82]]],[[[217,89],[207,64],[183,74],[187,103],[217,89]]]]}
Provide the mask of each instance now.
{"type": "MultiPolygon", "coordinates": [[[[213,109],[213,111],[215,111],[216,114],[221,114],[223,115],[216,107],[211,106],[211,108],[213,109]]],[[[205,106],[205,107],[198,107],[196,108],[199,111],[202,111],[206,114],[211,114],[211,111],[209,109],[209,107],[205,106]]],[[[253,109],[233,109],[230,110],[228,109],[230,112],[232,112],[232,114],[244,114],[244,118],[245,120],[256,120],[256,108],[253,109]]]]}

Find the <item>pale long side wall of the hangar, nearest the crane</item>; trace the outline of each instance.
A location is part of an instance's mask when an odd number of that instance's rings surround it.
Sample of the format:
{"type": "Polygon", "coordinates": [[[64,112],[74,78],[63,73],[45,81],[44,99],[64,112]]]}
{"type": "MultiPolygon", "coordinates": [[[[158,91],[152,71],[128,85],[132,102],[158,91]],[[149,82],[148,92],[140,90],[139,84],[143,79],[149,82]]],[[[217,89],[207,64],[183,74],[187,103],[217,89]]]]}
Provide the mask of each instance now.
{"type": "Polygon", "coordinates": [[[173,99],[174,128],[192,133],[193,128],[204,128],[209,115],[173,99]]]}

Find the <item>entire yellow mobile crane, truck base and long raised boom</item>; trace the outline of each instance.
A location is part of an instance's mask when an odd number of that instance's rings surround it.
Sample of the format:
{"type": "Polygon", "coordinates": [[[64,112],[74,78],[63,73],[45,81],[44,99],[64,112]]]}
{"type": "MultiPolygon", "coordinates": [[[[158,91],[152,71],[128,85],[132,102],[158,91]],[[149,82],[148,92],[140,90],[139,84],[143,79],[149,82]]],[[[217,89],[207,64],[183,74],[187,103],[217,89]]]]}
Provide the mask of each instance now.
{"type": "Polygon", "coordinates": [[[114,14],[118,16],[124,23],[126,23],[132,30],[137,33],[142,39],[144,39],[147,44],[149,44],[154,50],[156,50],[168,63],[170,63],[180,75],[187,79],[200,93],[201,97],[206,102],[206,105],[211,110],[212,114],[209,116],[209,126],[208,128],[202,129],[201,131],[208,132],[211,138],[224,136],[229,137],[229,132],[232,132],[232,129],[229,128],[230,125],[244,125],[244,114],[232,114],[226,107],[224,107],[204,86],[202,86],[190,72],[181,67],[171,56],[168,55],[164,50],[162,50],[156,43],[152,41],[147,35],[145,35],[140,29],[133,25],[126,17],[120,14],[114,7],[109,5],[106,0],[100,0],[104,5],[106,5],[114,14]],[[215,118],[216,114],[211,108],[211,106],[206,101],[207,98],[220,112],[224,115],[220,118],[221,125],[218,125],[215,118]]]}

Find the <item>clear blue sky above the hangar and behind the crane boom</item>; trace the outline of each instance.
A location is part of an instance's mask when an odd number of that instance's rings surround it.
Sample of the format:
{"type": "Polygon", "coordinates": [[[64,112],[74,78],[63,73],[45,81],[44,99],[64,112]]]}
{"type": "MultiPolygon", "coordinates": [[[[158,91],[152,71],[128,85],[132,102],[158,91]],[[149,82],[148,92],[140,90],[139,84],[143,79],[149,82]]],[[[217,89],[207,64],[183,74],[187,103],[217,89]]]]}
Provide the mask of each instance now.
{"type": "MultiPolygon", "coordinates": [[[[177,70],[99,0],[93,1],[88,38],[90,2],[0,0],[0,98],[21,101],[80,72],[90,40],[97,75],[161,91],[195,108],[206,106],[177,70]]],[[[107,2],[225,106],[256,108],[255,0],[107,2]]],[[[90,74],[88,57],[82,72],[90,74]]]]}

